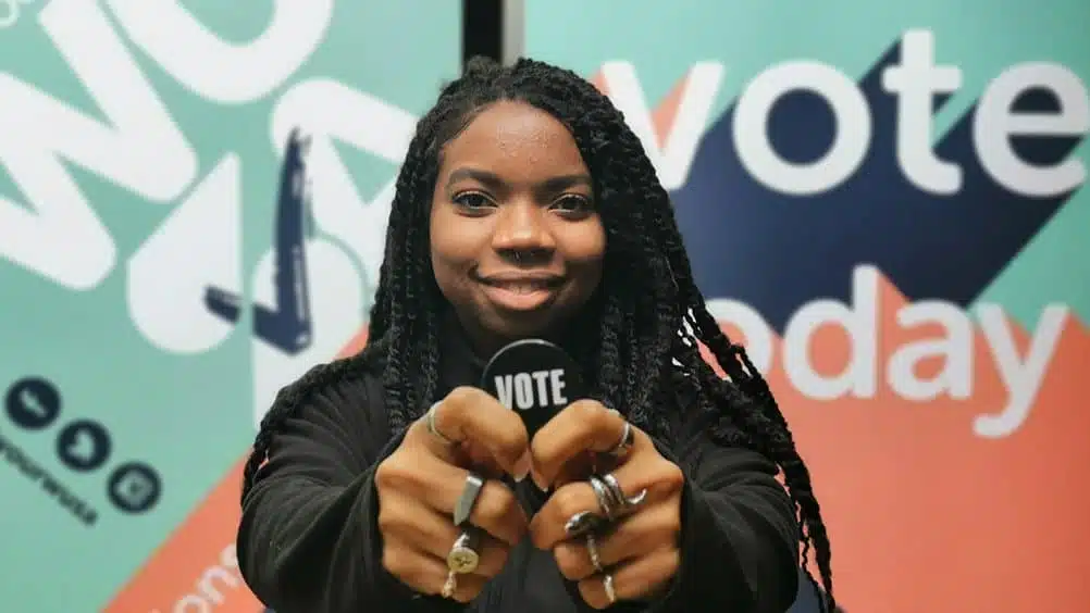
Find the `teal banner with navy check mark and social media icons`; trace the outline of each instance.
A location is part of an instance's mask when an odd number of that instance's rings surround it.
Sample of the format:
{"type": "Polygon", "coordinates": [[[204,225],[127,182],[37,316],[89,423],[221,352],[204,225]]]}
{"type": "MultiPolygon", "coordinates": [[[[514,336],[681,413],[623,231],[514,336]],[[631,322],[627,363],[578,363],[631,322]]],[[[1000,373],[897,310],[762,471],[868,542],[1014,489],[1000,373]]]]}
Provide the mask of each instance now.
{"type": "Polygon", "coordinates": [[[460,29],[428,0],[0,1],[0,609],[261,611],[240,463],[362,341],[460,29]]]}

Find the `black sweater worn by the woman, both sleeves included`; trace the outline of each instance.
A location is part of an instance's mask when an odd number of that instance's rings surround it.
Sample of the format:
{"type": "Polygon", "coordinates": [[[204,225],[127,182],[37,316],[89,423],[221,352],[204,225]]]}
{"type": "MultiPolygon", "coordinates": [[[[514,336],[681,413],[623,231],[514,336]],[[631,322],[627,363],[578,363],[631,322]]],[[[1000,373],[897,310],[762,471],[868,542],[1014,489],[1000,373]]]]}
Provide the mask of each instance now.
{"type": "MultiPolygon", "coordinates": [[[[483,369],[461,334],[444,339],[440,397],[476,385],[483,369]]],[[[375,467],[401,442],[390,431],[377,368],[304,377],[277,403],[298,406],[243,501],[239,564],[277,613],[589,611],[549,552],[523,541],[504,572],[462,605],[420,597],[382,565],[375,467]]],[[[666,596],[610,611],[782,613],[799,587],[794,506],[776,467],[752,451],[713,442],[693,407],[678,407],[674,444],[659,452],[683,470],[681,567],[666,596]]],[[[524,481],[526,486],[530,481],[524,481]]],[[[541,500],[526,501],[532,507],[541,500]]]]}

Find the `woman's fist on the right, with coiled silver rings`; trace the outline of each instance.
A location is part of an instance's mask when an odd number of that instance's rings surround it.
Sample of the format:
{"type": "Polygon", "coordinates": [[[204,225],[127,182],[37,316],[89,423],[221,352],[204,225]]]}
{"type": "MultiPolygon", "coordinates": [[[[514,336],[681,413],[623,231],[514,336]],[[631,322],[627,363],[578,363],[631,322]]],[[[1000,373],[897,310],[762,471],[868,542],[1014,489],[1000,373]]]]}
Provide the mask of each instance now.
{"type": "Polygon", "coordinates": [[[625,438],[623,417],[601,403],[579,401],[549,420],[531,442],[534,481],[542,489],[557,488],[530,524],[534,545],[553,551],[560,573],[579,583],[583,600],[595,609],[663,593],[681,560],[685,476],[658,453],[650,437],[629,428],[631,448],[611,458],[606,453],[625,438]],[[610,466],[601,466],[603,461],[610,466]],[[590,482],[577,480],[590,477],[594,464],[600,464],[600,473],[611,468],[626,499],[638,500],[643,490],[646,494],[623,516],[606,519],[603,529],[573,536],[566,525],[577,514],[605,515],[590,482]],[[600,568],[591,549],[596,550],[600,568]]]}

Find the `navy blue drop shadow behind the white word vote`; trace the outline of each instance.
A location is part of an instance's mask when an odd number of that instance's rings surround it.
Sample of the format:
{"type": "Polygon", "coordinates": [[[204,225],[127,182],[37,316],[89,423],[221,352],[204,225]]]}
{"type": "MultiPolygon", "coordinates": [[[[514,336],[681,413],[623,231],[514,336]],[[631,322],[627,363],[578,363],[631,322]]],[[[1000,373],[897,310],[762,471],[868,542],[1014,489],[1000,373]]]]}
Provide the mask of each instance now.
{"type": "MultiPolygon", "coordinates": [[[[1068,200],[1071,193],[1029,198],[996,184],[973,150],[974,108],[935,147],[940,159],[961,167],[960,193],[935,196],[911,185],[896,159],[896,98],[881,87],[882,71],[899,58],[897,42],[860,81],[871,108],[871,147],[860,169],[826,193],[784,195],[751,177],[734,147],[734,105],[713,124],[688,183],[671,194],[706,296],[748,303],[783,332],[807,302],[848,301],[851,270],[873,263],[909,299],[967,306],[1068,200]]],[[[933,108],[947,99],[936,96],[933,108]]],[[[1041,91],[1015,106],[1057,107],[1041,91]]],[[[812,94],[786,95],[770,113],[770,140],[789,160],[820,157],[835,128],[827,103],[812,94]]],[[[1032,136],[1013,146],[1027,162],[1054,163],[1080,140],[1032,136]]]]}

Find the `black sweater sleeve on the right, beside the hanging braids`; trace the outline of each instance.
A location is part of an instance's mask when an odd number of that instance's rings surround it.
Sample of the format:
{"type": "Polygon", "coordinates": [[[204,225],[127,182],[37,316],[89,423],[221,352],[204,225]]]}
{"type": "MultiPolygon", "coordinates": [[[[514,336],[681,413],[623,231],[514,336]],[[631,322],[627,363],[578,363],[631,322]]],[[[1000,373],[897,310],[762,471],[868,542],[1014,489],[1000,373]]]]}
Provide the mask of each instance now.
{"type": "MultiPolygon", "coordinates": [[[[689,429],[692,432],[692,428],[689,429]]],[[[655,613],[783,613],[799,587],[795,505],[763,455],[705,431],[658,446],[686,474],[681,566],[655,613]]]]}

